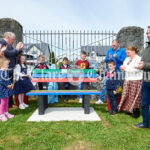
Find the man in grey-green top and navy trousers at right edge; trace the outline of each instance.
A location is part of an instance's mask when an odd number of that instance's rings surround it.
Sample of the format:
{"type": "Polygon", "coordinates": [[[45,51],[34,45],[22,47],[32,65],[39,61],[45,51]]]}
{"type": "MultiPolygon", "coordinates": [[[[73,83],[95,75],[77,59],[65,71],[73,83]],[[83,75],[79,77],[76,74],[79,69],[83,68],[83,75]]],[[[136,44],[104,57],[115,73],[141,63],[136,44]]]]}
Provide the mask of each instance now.
{"type": "Polygon", "coordinates": [[[149,71],[150,71],[150,26],[147,29],[147,46],[142,54],[141,62],[139,62],[136,69],[141,69],[144,72],[143,76],[143,83],[142,83],[142,117],[143,122],[133,125],[135,128],[149,128],[150,124],[150,78],[149,78],[149,71]]]}

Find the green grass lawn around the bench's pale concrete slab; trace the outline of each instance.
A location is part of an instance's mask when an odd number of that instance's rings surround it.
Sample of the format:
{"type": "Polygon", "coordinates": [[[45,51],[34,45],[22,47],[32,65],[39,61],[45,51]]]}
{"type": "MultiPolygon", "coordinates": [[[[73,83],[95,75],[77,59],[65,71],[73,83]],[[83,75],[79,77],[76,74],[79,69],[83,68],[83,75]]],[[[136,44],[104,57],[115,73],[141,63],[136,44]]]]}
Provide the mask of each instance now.
{"type": "MultiPolygon", "coordinates": [[[[50,106],[81,106],[76,101],[50,106]]],[[[10,109],[15,118],[0,122],[0,150],[148,150],[150,130],[132,127],[142,121],[119,113],[109,116],[104,105],[94,105],[100,122],[27,122],[37,108],[30,100],[26,110],[10,109]]]]}

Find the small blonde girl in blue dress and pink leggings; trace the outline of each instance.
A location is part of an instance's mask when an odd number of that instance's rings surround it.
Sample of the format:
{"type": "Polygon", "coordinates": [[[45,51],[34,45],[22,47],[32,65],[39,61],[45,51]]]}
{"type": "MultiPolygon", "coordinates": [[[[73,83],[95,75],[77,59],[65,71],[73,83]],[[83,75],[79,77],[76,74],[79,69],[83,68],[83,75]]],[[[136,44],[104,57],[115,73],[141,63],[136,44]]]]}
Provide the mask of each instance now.
{"type": "Polygon", "coordinates": [[[13,95],[13,86],[8,75],[9,60],[0,58],[0,120],[7,121],[14,115],[8,112],[9,96],[13,95]]]}

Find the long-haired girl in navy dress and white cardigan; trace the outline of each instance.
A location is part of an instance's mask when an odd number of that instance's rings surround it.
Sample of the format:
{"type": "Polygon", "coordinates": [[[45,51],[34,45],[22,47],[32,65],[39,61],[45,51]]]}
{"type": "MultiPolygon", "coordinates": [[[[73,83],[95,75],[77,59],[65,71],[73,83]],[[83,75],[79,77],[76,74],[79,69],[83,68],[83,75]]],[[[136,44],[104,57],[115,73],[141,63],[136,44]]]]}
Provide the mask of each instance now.
{"type": "Polygon", "coordinates": [[[24,103],[24,93],[30,90],[35,90],[27,71],[26,57],[24,55],[19,56],[19,62],[15,67],[15,79],[14,93],[18,95],[19,108],[25,109],[29,105],[24,103]]]}

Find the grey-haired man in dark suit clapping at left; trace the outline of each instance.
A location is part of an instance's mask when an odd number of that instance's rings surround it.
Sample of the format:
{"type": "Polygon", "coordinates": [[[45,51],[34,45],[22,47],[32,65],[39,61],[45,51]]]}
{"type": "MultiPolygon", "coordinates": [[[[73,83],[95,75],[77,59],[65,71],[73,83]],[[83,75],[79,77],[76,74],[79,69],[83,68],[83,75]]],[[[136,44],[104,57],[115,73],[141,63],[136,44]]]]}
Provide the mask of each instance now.
{"type": "MultiPolygon", "coordinates": [[[[9,78],[12,83],[13,83],[13,69],[16,65],[16,58],[21,53],[21,50],[24,47],[24,44],[22,42],[19,42],[17,44],[16,48],[13,48],[12,45],[13,45],[14,41],[15,41],[15,34],[12,32],[5,32],[4,38],[0,40],[1,47],[7,46],[7,49],[4,51],[4,56],[10,60],[9,78]]],[[[12,97],[9,98],[9,106],[16,107],[13,104],[12,97]]]]}

